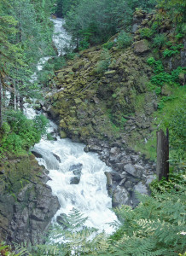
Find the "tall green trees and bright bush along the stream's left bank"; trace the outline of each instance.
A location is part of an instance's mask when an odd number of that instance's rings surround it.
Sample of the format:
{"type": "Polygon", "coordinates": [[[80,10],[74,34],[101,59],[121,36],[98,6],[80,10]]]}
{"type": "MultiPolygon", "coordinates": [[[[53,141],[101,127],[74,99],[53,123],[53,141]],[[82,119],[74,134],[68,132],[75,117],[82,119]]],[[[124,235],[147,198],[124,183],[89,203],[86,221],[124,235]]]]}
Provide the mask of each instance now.
{"type": "MultiPolygon", "coordinates": [[[[50,0],[2,0],[0,3],[0,154],[18,154],[43,134],[37,120],[23,114],[23,98],[39,96],[32,74],[44,55],[53,55],[50,0]]],[[[40,118],[46,124],[44,117],[40,118]]],[[[41,128],[41,127],[40,127],[41,128]]]]}

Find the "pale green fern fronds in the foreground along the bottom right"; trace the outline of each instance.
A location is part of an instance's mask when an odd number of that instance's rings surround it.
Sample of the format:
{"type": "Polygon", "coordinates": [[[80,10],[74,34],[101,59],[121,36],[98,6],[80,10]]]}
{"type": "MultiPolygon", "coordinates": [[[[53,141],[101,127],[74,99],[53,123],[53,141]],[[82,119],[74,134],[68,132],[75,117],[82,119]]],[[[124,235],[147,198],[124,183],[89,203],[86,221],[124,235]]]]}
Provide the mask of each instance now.
{"type": "Polygon", "coordinates": [[[116,209],[119,222],[111,236],[98,234],[84,226],[76,209],[64,215],[61,224],[52,227],[49,236],[65,242],[51,242],[33,248],[33,255],[178,255],[184,253],[185,175],[172,173],[169,181],[154,181],[152,195],[137,195],[141,201],[132,209],[116,209]],[[47,254],[46,254],[47,253],[47,254]]]}

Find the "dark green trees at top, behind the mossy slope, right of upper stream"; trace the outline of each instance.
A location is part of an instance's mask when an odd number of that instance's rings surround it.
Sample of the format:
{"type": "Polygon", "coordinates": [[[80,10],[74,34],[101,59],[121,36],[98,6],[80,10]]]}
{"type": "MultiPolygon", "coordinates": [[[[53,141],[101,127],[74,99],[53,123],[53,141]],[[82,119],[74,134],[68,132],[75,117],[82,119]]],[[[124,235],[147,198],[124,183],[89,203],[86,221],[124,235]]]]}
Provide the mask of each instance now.
{"type": "MultiPolygon", "coordinates": [[[[67,30],[72,33],[77,49],[86,49],[89,45],[107,42],[108,38],[121,31],[120,28],[128,31],[135,9],[151,9],[155,3],[154,0],[140,3],[136,0],[58,0],[56,13],[65,15],[67,30]]],[[[120,38],[126,37],[121,34],[120,38]]],[[[129,44],[128,39],[121,40],[129,44]]]]}

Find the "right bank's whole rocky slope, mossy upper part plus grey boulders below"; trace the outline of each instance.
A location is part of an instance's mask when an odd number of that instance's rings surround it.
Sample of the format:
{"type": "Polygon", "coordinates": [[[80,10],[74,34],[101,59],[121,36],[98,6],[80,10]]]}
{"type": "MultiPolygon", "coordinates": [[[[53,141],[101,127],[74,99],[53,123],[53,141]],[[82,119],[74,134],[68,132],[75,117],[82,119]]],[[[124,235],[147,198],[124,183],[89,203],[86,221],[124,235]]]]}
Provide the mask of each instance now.
{"type": "MultiPolygon", "coordinates": [[[[154,163],[131,148],[141,148],[160,125],[155,123],[158,95],[149,86],[153,70],[147,60],[153,55],[160,59],[164,49],[160,45],[153,52],[150,35],[155,30],[171,40],[175,29],[170,20],[157,19],[139,10],[134,15],[131,47],[117,47],[116,36],[108,42],[110,48],[107,44],[79,53],[56,71],[43,107],[59,123],[61,137],[86,143],[84,150],[97,152],[112,166],[113,173],[106,175],[113,207],[136,206],[134,191],[148,194],[148,183],[154,178],[154,163]]],[[[182,65],[183,55],[182,49],[174,57],[162,58],[167,72],[182,65]]],[[[171,95],[167,84],[160,94],[171,95]]]]}

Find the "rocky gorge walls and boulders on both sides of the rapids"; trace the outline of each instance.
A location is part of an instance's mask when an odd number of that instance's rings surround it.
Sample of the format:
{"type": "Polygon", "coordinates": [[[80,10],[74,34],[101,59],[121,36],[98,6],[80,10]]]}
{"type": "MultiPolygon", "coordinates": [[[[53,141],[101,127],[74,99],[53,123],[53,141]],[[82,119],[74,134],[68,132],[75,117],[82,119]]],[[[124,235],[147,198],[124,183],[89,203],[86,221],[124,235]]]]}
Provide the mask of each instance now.
{"type": "MultiPolygon", "coordinates": [[[[154,21],[154,15],[137,11],[130,47],[117,47],[116,35],[108,42],[112,45],[110,49],[108,44],[85,49],[66,67],[55,71],[44,101],[37,102],[37,108],[59,126],[61,138],[84,143],[85,152],[99,154],[112,168],[112,172],[105,172],[112,207],[136,207],[136,191],[149,194],[148,185],[154,179],[155,162],[139,149],[160,126],[154,116],[159,99],[147,86],[153,75],[147,60],[152,55],[160,58],[163,49],[152,54],[150,38],[143,38],[140,32],[154,21]]],[[[168,38],[173,37],[174,30],[167,20],[158,30],[168,38]]],[[[185,48],[164,62],[166,71],[184,67],[185,48]]],[[[184,83],[183,75],[179,79],[184,83]]],[[[170,87],[163,84],[161,94],[171,93],[170,87]]],[[[41,157],[36,150],[33,153],[41,157]]],[[[71,172],[75,175],[71,183],[79,183],[81,166],[73,166],[71,172]]],[[[48,171],[38,166],[33,154],[1,163],[1,240],[32,245],[44,242],[43,235],[60,208],[46,184],[48,181],[48,171]]]]}

